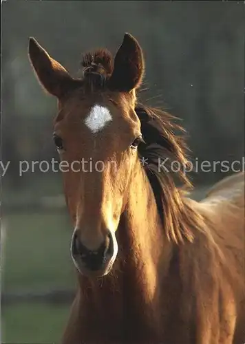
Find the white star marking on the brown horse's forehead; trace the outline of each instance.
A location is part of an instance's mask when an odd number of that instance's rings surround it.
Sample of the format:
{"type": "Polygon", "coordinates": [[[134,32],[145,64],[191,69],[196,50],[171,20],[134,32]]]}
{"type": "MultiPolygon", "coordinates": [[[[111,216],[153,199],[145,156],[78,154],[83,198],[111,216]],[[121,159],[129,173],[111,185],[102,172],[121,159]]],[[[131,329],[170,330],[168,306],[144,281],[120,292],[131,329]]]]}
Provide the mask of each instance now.
{"type": "Polygon", "coordinates": [[[87,116],[87,118],[85,119],[85,125],[87,125],[92,133],[96,133],[100,129],[103,129],[107,122],[111,120],[112,117],[107,107],[94,105],[94,107],[92,107],[92,110],[90,111],[89,116],[87,116]]]}

